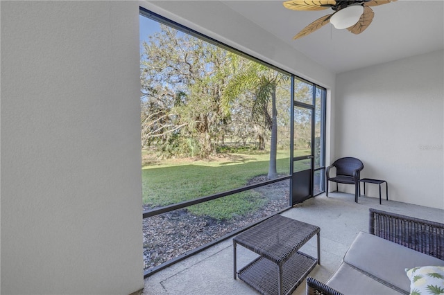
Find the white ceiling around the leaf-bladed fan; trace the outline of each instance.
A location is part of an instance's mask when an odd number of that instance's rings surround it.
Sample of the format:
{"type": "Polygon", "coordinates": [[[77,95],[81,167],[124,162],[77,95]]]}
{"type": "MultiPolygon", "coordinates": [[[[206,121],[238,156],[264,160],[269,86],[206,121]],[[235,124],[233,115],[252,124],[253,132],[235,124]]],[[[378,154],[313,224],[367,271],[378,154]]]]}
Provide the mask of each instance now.
{"type": "Polygon", "coordinates": [[[359,35],[327,24],[297,40],[296,33],[333,10],[288,10],[279,0],[221,2],[334,73],[444,48],[443,0],[373,6],[373,22],[359,35]]]}

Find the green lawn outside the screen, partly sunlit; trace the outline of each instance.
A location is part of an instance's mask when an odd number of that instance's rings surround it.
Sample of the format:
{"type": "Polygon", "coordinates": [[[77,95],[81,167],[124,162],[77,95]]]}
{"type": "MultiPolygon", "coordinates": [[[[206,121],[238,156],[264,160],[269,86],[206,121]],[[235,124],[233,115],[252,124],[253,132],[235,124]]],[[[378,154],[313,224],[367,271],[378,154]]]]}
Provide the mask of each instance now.
{"type": "MultiPolygon", "coordinates": [[[[300,151],[309,153],[308,150],[300,151]]],[[[208,160],[148,159],[144,152],[142,194],[144,204],[154,208],[196,199],[246,186],[255,176],[268,172],[269,155],[260,152],[228,154],[208,160]]],[[[278,173],[289,174],[289,151],[278,151],[278,173]]],[[[265,206],[268,199],[255,190],[190,206],[195,215],[208,215],[217,220],[245,215],[265,206]]]]}

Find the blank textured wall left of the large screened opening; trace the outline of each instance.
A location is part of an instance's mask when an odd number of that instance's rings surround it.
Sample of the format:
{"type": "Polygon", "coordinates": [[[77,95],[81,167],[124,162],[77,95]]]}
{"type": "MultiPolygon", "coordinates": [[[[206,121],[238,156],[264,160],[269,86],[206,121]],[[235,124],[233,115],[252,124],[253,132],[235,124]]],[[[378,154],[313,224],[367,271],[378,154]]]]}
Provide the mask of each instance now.
{"type": "Polygon", "coordinates": [[[1,292],[142,289],[137,1],[1,1],[1,292]]]}

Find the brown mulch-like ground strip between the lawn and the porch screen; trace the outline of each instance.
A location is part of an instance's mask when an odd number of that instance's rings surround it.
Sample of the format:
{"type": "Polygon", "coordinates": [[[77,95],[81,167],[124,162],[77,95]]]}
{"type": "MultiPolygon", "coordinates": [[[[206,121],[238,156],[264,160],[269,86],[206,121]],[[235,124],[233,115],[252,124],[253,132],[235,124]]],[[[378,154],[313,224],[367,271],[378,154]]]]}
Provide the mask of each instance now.
{"type": "MultiPolygon", "coordinates": [[[[255,177],[248,184],[264,181],[265,178],[255,177]]],[[[145,218],[144,269],[151,269],[289,206],[289,181],[280,181],[255,190],[268,197],[268,204],[251,215],[233,220],[219,222],[210,217],[192,215],[185,208],[145,218]]]]}

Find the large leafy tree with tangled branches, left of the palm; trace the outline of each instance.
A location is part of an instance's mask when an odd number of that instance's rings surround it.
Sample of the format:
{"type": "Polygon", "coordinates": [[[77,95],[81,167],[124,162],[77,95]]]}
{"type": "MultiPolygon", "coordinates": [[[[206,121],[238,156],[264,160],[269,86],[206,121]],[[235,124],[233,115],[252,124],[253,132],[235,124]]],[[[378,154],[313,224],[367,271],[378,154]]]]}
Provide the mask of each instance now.
{"type": "Polygon", "coordinates": [[[212,154],[227,119],[226,51],[164,25],[142,46],[142,145],[167,156],[212,154]]]}

